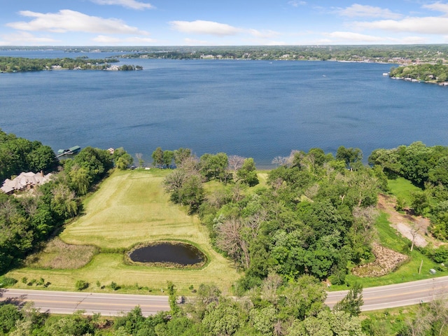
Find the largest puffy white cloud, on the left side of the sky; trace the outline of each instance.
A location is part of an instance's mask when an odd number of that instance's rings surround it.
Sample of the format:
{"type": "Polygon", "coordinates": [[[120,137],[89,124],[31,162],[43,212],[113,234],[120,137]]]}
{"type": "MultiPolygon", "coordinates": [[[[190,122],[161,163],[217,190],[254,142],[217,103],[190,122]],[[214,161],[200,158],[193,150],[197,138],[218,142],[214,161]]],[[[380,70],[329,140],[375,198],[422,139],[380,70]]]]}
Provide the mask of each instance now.
{"type": "Polygon", "coordinates": [[[138,34],[147,35],[136,27],[130,27],[119,19],[104,19],[89,16],[74,10],[63,9],[58,13],[36,13],[31,10],[22,10],[20,15],[34,18],[29,22],[10,22],[6,24],[18,30],[25,31],[51,31],[65,33],[67,31],[81,31],[99,34],[138,34]]]}

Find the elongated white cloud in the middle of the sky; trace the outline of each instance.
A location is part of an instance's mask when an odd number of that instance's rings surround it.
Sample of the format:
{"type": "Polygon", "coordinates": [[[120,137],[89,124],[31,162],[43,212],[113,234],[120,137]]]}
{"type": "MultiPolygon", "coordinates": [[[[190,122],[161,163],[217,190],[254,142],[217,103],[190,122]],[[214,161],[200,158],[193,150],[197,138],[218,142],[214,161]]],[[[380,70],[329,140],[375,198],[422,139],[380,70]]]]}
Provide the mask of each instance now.
{"type": "Polygon", "coordinates": [[[177,31],[183,33],[193,34],[208,34],[216,36],[230,36],[241,32],[241,29],[226,25],[225,23],[218,23],[213,21],[171,21],[170,25],[177,31]]]}

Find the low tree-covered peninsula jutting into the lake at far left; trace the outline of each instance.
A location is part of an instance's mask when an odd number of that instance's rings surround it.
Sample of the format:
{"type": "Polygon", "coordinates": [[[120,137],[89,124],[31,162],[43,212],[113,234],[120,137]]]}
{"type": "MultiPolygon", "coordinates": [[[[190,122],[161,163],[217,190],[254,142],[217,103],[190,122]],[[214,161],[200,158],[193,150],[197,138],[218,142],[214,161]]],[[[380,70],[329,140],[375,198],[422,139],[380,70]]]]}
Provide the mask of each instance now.
{"type": "MultiPolygon", "coordinates": [[[[39,59],[24,57],[0,57],[0,72],[25,72],[42,71],[52,69],[78,69],[78,70],[107,70],[111,68],[111,63],[120,62],[116,58],[108,59],[87,59],[84,57],[39,59]]],[[[139,70],[141,66],[122,65],[118,70],[131,71],[139,70]]]]}

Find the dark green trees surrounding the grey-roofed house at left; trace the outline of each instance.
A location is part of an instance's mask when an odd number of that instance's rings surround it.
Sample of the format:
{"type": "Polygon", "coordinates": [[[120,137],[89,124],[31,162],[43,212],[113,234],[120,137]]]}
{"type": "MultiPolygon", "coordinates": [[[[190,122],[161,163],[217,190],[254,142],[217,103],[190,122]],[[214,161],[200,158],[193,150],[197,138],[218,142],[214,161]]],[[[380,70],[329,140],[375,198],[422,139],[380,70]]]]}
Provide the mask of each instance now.
{"type": "Polygon", "coordinates": [[[81,209],[80,196],[104,179],[109,169],[131,163],[132,157],[123,148],[111,155],[92,147],[57,162],[50,147],[0,130],[1,181],[21,172],[49,172],[58,165],[62,170],[33,195],[14,197],[0,192],[0,274],[18,265],[64,221],[76,216],[81,209]]]}

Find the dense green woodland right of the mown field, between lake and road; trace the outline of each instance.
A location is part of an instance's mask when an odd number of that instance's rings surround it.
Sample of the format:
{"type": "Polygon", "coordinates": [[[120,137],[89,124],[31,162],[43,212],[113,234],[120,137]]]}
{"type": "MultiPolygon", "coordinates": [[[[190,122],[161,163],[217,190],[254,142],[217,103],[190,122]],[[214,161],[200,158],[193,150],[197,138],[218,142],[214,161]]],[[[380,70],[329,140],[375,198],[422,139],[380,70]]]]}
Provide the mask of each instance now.
{"type": "MultiPolygon", "coordinates": [[[[430,217],[432,234],[448,239],[447,147],[416,142],[378,149],[368,166],[358,148],[341,146],[335,156],[320,148],[293,151],[274,159],[279,167],[267,174],[267,188],[251,192],[247,187],[258,183],[253,159],[225,153],[193,158],[181,149],[174,151],[178,167],[165,179],[165,189],[173,202],[200,216],[214,246],[244,270],[236,293],[260,286],[272,272],[282,279],[309,275],[344,283],[350,262],[374,259],[377,195],[387,193],[387,179],[397,176],[421,188],[411,204],[399,199],[398,210],[430,217]],[[227,188],[206,195],[205,181],[227,188]]],[[[425,253],[447,257],[444,248],[425,253]]]]}

